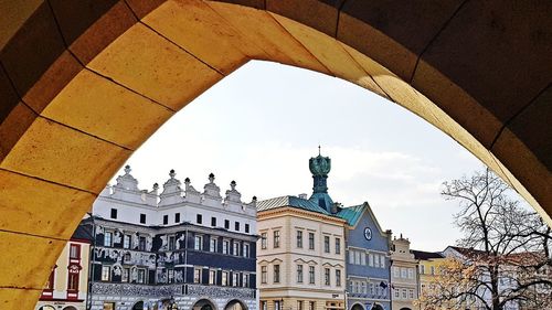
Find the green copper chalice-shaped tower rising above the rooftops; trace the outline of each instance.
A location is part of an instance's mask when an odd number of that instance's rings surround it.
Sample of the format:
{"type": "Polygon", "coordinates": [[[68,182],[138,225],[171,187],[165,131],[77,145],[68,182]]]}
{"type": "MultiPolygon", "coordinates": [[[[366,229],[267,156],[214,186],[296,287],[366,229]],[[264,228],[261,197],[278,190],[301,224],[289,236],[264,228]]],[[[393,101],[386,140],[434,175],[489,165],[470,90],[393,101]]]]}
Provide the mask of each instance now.
{"type": "Polygon", "coordinates": [[[328,173],[331,170],[331,159],[320,154],[320,147],[318,147],[318,156],[309,159],[309,169],[314,181],[312,195],[309,200],[331,213],[333,201],[328,195],[327,183],[328,173]]]}

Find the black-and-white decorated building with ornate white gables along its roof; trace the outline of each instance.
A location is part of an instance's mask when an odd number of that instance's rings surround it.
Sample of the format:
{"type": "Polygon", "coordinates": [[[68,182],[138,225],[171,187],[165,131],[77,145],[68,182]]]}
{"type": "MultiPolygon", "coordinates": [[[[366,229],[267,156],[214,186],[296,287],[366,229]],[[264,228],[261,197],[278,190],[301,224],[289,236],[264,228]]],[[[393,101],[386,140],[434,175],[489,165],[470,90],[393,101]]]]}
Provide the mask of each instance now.
{"type": "Polygon", "coordinates": [[[221,195],[169,173],[162,192],[138,189],[127,165],[82,226],[93,232],[91,310],[257,309],[256,203],[236,183],[221,195]]]}

